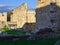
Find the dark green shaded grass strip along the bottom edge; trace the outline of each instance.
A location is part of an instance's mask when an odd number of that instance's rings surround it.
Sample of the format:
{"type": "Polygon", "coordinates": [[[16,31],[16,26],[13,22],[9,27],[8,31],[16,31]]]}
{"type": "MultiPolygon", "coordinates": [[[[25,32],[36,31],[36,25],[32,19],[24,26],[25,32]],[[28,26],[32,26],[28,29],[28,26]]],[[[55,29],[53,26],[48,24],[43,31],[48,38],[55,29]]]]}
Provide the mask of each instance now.
{"type": "Polygon", "coordinates": [[[0,45],[54,45],[57,39],[0,41],[0,45]]]}

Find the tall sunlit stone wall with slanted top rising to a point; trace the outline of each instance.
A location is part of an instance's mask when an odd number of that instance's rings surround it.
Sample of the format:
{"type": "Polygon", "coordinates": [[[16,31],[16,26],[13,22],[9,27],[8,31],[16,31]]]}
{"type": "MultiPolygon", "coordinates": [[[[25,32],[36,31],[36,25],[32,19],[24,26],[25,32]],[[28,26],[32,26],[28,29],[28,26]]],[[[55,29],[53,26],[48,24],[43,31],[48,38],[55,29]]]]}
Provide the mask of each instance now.
{"type": "Polygon", "coordinates": [[[22,28],[26,23],[27,14],[27,4],[23,3],[21,6],[13,9],[13,15],[11,16],[11,21],[17,22],[17,27],[22,28]]]}

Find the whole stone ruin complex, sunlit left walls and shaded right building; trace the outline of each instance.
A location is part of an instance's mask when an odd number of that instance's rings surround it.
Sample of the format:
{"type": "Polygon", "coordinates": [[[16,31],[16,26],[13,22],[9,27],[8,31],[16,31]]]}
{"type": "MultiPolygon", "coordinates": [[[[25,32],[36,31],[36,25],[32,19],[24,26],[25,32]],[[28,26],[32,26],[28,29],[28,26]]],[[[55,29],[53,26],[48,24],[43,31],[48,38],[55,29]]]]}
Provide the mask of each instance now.
{"type": "Polygon", "coordinates": [[[28,10],[27,4],[23,3],[10,12],[1,13],[0,17],[0,24],[3,22],[10,28],[60,30],[60,0],[37,0],[35,10],[28,10]]]}

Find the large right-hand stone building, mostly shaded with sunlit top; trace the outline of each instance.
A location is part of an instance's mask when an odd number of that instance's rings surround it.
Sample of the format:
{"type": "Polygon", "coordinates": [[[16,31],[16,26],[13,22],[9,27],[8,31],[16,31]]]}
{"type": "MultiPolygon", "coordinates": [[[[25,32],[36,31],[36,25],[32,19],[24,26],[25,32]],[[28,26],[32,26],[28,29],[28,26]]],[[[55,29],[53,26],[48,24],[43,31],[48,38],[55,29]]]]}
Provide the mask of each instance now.
{"type": "Polygon", "coordinates": [[[60,0],[37,0],[36,30],[60,30],[60,0]]]}

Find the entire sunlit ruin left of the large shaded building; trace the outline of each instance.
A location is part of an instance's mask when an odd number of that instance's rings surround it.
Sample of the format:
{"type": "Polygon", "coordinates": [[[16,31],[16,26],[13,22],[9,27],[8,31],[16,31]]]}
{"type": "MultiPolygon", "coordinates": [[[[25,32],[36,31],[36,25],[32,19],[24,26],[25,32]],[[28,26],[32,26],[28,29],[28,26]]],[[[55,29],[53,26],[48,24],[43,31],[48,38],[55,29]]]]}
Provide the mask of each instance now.
{"type": "Polygon", "coordinates": [[[28,10],[26,3],[14,8],[10,12],[1,13],[0,17],[2,19],[0,21],[4,22],[4,24],[1,24],[11,29],[23,28],[24,30],[32,30],[31,26],[34,26],[36,22],[35,10],[28,10]]]}

